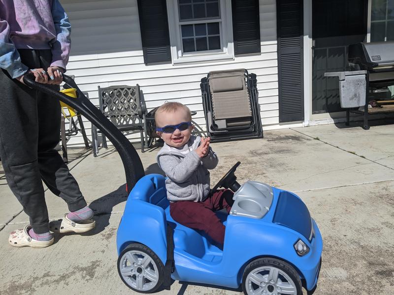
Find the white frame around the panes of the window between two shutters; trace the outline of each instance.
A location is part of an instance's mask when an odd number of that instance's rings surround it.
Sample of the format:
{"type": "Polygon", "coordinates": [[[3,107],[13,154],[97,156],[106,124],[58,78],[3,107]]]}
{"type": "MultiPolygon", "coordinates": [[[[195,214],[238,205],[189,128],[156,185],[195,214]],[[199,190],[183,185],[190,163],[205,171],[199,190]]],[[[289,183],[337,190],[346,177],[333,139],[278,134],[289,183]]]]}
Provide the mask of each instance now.
{"type": "Polygon", "coordinates": [[[223,59],[234,59],[234,45],[232,38],[231,1],[219,0],[221,19],[202,19],[201,21],[179,21],[178,0],[167,0],[167,14],[171,57],[173,64],[208,62],[223,59]],[[200,52],[182,52],[181,24],[197,24],[219,22],[221,50],[207,50],[200,52]]]}

